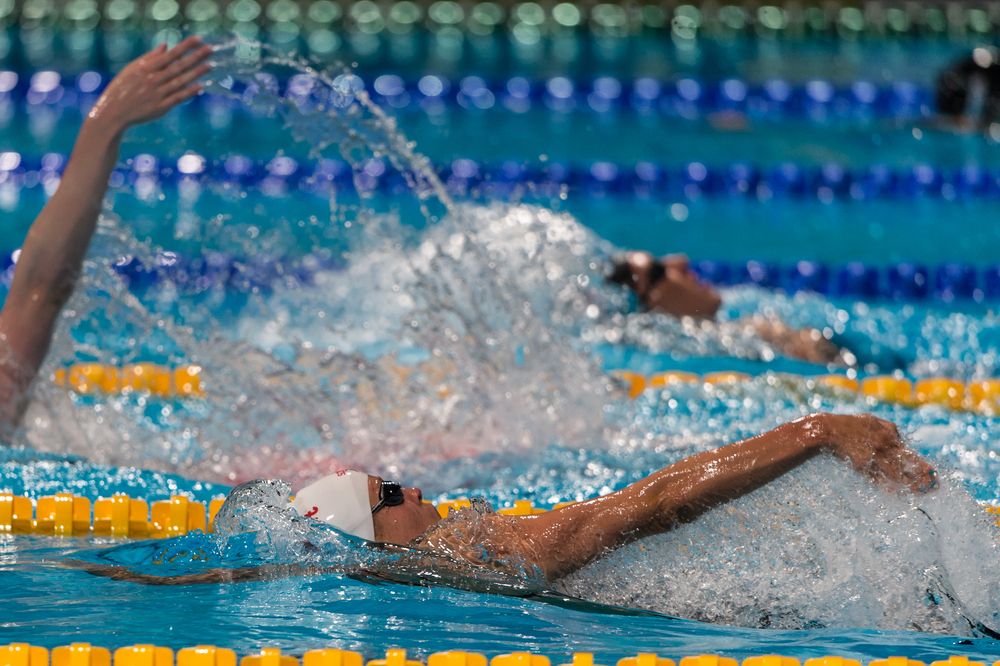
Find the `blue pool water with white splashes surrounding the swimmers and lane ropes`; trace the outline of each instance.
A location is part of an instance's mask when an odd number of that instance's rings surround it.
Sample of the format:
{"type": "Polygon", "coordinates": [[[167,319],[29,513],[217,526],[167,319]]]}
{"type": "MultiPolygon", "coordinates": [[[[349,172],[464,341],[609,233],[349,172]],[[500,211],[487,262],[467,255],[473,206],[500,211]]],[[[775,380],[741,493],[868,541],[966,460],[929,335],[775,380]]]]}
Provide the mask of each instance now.
{"type": "MultiPolygon", "coordinates": [[[[24,431],[11,442],[17,446],[0,452],[3,489],[31,497],[179,492],[204,501],[246,479],[301,483],[349,464],[420,485],[431,498],[483,496],[500,506],[530,497],[551,505],[608,493],[685,455],[819,410],[872,411],[895,421],[941,468],[942,487],[889,495],[832,459],[816,459],[692,525],[623,548],[554,590],[524,584],[514,595],[335,572],[148,586],[70,566],[124,562],[165,575],[302,557],[287,517],[267,513],[251,537],[132,544],[4,537],[0,601],[13,613],[0,623],[0,642],[275,645],[294,653],[334,644],[367,655],[389,645],[421,655],[583,650],[605,663],[636,651],[924,661],[1000,652],[1000,545],[978,505],[1000,500],[996,418],[815,390],[771,371],[825,368],[772,359],[752,340],[692,334],[666,318],[630,314],[627,297],[602,280],[604,262],[621,247],[733,261],[985,267],[998,247],[995,229],[981,222],[996,206],[991,196],[734,200],[681,188],[675,197],[643,200],[577,184],[463,198],[437,182],[408,142],[419,138],[435,163],[459,156],[482,163],[833,160],[943,169],[992,168],[988,139],[917,138],[912,123],[901,123],[881,126],[882,152],[869,134],[852,142],[844,137],[850,128],[803,121],[787,135],[768,121],[731,136],[699,120],[643,125],[631,115],[543,113],[515,122],[505,112],[477,116],[457,107],[434,118],[400,114],[397,128],[338,71],[299,97],[270,92],[261,72],[286,81],[303,70],[280,56],[263,64],[246,57],[255,52],[243,45],[218,56],[211,92],[237,120],[207,132],[183,110],[137,132],[127,154],[171,165],[186,151],[262,159],[280,149],[303,164],[334,157],[356,169],[360,192],[340,187],[318,196],[197,170],[143,180],[142,160],[126,164],[45,375],[73,361],[196,363],[205,369],[207,396],[76,396],[39,381],[24,431]],[[815,150],[801,150],[813,141],[815,150]],[[410,178],[398,198],[368,194],[366,179],[381,173],[370,170],[375,157],[410,178]],[[163,251],[215,252],[248,264],[322,261],[308,280],[248,280],[242,289],[226,280],[194,290],[171,279],[130,286],[113,267],[123,256],[154,266],[163,251]],[[757,378],[671,385],[630,401],[606,374],[618,368],[739,368],[757,378]]],[[[10,122],[30,124],[31,113],[10,122]]],[[[10,151],[38,164],[40,153],[68,145],[62,123],[47,136],[9,127],[10,151]]],[[[16,178],[0,184],[16,230],[4,235],[9,246],[0,249],[8,251],[44,200],[42,179],[11,173],[16,178]]],[[[889,348],[912,377],[996,374],[995,301],[985,297],[858,302],[734,287],[725,309],[729,319],[770,310],[794,325],[889,348]]],[[[361,552],[329,532],[312,538],[322,543],[324,564],[352,562],[361,552]]]]}

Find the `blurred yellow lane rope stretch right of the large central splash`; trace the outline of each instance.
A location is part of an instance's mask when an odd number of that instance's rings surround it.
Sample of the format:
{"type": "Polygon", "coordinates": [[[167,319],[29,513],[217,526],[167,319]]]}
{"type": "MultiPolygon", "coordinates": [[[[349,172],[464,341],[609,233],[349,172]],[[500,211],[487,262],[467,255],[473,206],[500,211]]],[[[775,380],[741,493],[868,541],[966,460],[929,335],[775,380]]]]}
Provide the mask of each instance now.
{"type": "MultiPolygon", "coordinates": [[[[616,374],[625,382],[629,396],[632,398],[637,398],[650,389],[663,389],[677,384],[725,385],[739,384],[755,379],[742,372],[712,372],[706,375],[697,375],[692,372],[669,371],[647,376],[636,372],[622,371],[616,374]]],[[[802,381],[806,388],[813,390],[833,389],[907,407],[940,405],[956,411],[974,411],[988,415],[1000,414],[1000,379],[964,383],[947,377],[933,377],[921,379],[914,384],[909,379],[892,375],[866,377],[860,381],[845,375],[774,376],[791,377],[802,381]]]]}

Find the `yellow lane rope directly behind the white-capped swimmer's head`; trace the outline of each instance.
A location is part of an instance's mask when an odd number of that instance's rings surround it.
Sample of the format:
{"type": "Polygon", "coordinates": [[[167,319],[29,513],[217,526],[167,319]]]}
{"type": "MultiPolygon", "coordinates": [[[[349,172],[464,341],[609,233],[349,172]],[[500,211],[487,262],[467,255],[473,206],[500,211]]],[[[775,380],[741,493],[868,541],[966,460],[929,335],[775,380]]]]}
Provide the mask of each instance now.
{"type": "MultiPolygon", "coordinates": [[[[72,493],[57,493],[33,502],[28,497],[0,492],[0,534],[163,539],[195,530],[211,532],[215,514],[223,501],[221,497],[215,498],[206,507],[203,502],[183,495],[147,502],[118,494],[91,502],[72,493]]],[[[529,500],[516,500],[513,506],[497,511],[511,516],[530,516],[571,504],[574,502],[540,507],[529,500]]],[[[468,499],[447,500],[439,502],[437,510],[442,518],[447,518],[451,511],[467,506],[470,506],[468,499]]],[[[1000,507],[983,505],[983,508],[997,515],[997,525],[1000,525],[1000,507]]]]}

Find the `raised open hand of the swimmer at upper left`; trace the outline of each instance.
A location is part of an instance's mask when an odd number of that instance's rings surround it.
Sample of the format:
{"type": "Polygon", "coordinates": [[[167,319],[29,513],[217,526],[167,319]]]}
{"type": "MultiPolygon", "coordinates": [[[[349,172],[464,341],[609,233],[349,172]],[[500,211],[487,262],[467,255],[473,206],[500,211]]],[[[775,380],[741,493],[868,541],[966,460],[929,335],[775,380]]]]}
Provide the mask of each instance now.
{"type": "Polygon", "coordinates": [[[197,82],[211,69],[212,47],[188,37],[172,49],[161,44],[130,62],[108,85],[87,115],[115,133],[155,120],[201,92],[197,82]]]}

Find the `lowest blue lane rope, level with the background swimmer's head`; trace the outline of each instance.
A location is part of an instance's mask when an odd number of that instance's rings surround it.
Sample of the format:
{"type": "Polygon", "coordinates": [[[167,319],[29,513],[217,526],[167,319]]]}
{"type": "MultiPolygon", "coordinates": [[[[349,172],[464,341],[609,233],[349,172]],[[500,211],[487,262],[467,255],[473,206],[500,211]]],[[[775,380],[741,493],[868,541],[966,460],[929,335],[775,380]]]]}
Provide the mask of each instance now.
{"type": "MultiPolygon", "coordinates": [[[[0,282],[9,284],[16,253],[0,256],[0,282]]],[[[267,290],[278,284],[311,284],[321,271],[340,270],[344,262],[331,257],[236,257],[220,252],[185,256],[162,252],[151,262],[121,257],[114,270],[133,288],[170,282],[188,293],[213,289],[235,292],[267,290]]],[[[797,261],[714,261],[693,263],[695,271],[715,284],[757,285],[788,293],[815,292],[834,297],[937,300],[942,302],[1000,300],[1000,264],[976,267],[963,263],[927,265],[900,262],[876,266],[865,262],[826,264],[797,261]]]]}

